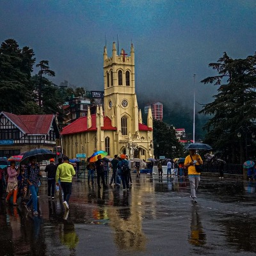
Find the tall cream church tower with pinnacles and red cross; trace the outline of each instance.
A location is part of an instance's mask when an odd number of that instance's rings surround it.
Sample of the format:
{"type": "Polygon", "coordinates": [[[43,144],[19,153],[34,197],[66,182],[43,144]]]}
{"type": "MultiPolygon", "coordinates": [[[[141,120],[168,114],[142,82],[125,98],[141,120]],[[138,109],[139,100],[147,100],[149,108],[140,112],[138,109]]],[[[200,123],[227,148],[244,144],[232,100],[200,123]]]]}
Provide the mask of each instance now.
{"type": "Polygon", "coordinates": [[[119,140],[127,140],[137,134],[139,128],[138,102],[134,81],[134,47],[131,56],[124,49],[120,55],[113,43],[112,56],[108,57],[104,47],[104,114],[116,127],[119,140]]]}

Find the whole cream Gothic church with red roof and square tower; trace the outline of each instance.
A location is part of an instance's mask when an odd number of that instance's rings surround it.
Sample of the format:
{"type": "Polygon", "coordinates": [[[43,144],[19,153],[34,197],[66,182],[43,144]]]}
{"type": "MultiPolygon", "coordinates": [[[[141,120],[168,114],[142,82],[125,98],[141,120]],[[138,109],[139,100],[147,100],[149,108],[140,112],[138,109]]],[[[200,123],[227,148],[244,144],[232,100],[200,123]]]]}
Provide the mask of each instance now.
{"type": "Polygon", "coordinates": [[[84,153],[89,157],[98,150],[108,152],[110,157],[115,154],[140,159],[154,157],[152,111],[148,109],[145,125],[138,109],[133,45],[131,56],[124,49],[118,55],[114,42],[111,57],[105,46],[103,61],[104,109],[97,106],[95,115],[88,109],[87,116],[63,128],[63,152],[68,157],[84,153]]]}

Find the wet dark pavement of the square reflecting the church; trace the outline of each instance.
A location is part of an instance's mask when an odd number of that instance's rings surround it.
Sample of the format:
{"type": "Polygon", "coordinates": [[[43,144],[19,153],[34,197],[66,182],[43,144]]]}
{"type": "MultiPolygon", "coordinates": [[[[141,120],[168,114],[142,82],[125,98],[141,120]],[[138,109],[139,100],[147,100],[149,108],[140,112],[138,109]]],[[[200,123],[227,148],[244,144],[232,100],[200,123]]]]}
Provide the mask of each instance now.
{"type": "Polygon", "coordinates": [[[40,187],[38,217],[0,204],[0,255],[255,255],[256,182],[132,173],[131,190],[74,179],[70,211],[40,187]],[[64,220],[67,219],[67,220],[64,220]]]}

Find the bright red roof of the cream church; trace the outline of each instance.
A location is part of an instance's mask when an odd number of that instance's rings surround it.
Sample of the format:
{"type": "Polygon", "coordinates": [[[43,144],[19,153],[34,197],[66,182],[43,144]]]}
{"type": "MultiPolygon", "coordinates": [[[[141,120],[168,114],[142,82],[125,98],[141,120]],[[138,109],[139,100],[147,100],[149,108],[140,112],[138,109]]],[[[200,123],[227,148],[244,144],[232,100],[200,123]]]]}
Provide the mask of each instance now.
{"type": "MultiPolygon", "coordinates": [[[[65,126],[61,132],[62,135],[65,134],[74,134],[79,132],[90,132],[97,131],[96,127],[96,115],[92,115],[92,127],[87,129],[87,116],[80,117],[76,121],[72,122],[65,126]]],[[[104,116],[104,126],[101,127],[104,131],[116,131],[116,127],[113,127],[111,124],[111,119],[108,116],[104,116]]],[[[152,128],[147,127],[145,124],[139,124],[140,131],[152,131],[152,128]]]]}

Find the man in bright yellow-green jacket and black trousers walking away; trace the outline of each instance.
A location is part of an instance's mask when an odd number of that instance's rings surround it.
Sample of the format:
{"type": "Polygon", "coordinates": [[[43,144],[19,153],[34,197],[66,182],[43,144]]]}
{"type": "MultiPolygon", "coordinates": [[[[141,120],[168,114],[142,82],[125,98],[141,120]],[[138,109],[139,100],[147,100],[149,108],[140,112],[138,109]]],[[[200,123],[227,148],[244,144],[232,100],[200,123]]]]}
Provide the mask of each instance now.
{"type": "Polygon", "coordinates": [[[63,191],[63,205],[66,210],[69,209],[68,201],[72,191],[72,177],[76,175],[74,167],[69,163],[67,156],[63,157],[63,163],[60,164],[56,171],[56,185],[59,186],[60,179],[61,188],[63,191]]]}

